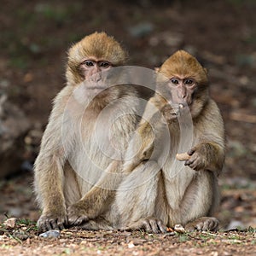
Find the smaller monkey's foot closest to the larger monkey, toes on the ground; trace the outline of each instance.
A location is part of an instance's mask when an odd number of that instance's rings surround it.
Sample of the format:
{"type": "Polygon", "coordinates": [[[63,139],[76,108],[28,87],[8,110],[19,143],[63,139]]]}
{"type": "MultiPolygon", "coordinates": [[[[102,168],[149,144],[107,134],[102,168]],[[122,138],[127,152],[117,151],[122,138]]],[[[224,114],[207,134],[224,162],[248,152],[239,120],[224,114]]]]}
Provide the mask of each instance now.
{"type": "Polygon", "coordinates": [[[148,233],[166,233],[167,227],[158,218],[143,218],[124,230],[146,230],[148,233]]]}

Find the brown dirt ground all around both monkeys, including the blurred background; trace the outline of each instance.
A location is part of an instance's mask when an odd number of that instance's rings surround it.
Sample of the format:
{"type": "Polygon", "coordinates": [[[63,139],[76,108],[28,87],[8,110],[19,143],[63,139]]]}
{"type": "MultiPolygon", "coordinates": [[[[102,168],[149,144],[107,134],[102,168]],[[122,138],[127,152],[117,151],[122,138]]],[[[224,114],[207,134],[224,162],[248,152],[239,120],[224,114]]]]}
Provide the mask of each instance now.
{"type": "MultiPolygon", "coordinates": [[[[33,224],[0,229],[0,253],[9,255],[253,255],[256,251],[256,3],[216,1],[22,1],[0,10],[0,91],[22,109],[31,129],[20,175],[0,181],[0,222],[36,221],[31,164],[38,154],[51,101],[65,84],[68,47],[105,31],[128,50],[129,64],[159,67],[186,49],[207,67],[212,98],[224,116],[227,154],[217,217],[223,231],[151,235],[65,230],[38,237],[33,224]],[[32,228],[31,228],[32,226],[32,228]],[[232,230],[240,226],[243,231],[232,230]],[[249,229],[249,227],[252,227],[249,229]],[[224,232],[229,229],[231,231],[224,232]],[[26,236],[21,236],[25,232],[26,236]],[[23,233],[22,233],[23,232],[23,233]],[[18,236],[17,236],[18,234],[18,236]],[[19,238],[20,237],[20,238],[19,238]]],[[[20,166],[14,166],[21,169],[20,166]]]]}

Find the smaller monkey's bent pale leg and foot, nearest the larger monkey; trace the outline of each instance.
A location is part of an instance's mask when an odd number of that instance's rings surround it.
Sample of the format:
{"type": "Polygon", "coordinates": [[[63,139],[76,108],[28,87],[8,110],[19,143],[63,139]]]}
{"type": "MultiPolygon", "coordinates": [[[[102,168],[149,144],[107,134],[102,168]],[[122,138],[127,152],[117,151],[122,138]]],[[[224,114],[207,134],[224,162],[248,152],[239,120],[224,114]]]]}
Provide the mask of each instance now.
{"type": "Polygon", "coordinates": [[[166,232],[166,226],[155,217],[160,166],[143,161],[119,186],[115,206],[122,230],[144,229],[148,232],[166,232]]]}

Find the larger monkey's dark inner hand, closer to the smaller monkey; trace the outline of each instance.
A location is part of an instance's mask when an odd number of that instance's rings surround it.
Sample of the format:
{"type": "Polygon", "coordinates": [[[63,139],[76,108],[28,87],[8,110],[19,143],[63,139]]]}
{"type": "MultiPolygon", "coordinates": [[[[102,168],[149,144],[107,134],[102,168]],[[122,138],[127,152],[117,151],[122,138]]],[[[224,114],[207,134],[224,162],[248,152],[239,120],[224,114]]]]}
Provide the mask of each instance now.
{"type": "Polygon", "coordinates": [[[88,215],[84,211],[83,205],[76,203],[67,208],[68,224],[78,226],[89,220],[88,215]]]}

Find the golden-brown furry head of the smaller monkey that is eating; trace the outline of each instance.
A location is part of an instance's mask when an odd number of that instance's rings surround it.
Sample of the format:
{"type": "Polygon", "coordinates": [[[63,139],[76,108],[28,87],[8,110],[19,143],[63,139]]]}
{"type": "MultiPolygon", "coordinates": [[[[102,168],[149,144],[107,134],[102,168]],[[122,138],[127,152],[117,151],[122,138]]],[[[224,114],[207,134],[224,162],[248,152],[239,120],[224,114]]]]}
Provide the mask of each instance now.
{"type": "MultiPolygon", "coordinates": [[[[200,113],[208,98],[207,71],[194,56],[178,50],[160,67],[167,79],[165,96],[174,108],[189,107],[192,116],[200,113]]],[[[162,86],[165,87],[165,86],[162,86]]]]}

